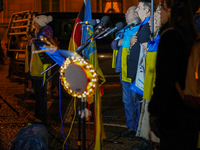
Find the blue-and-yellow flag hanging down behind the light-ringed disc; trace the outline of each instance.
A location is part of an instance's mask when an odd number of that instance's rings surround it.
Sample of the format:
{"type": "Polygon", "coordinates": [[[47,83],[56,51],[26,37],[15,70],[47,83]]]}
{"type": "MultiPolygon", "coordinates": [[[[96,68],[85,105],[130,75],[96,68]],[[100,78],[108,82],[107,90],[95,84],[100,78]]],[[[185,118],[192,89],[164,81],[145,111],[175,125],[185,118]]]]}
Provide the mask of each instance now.
{"type": "MultiPolygon", "coordinates": [[[[90,0],[87,0],[85,2],[84,21],[90,21],[90,20],[92,20],[91,4],[90,4],[90,0]]],[[[93,27],[85,25],[83,27],[83,33],[82,33],[82,44],[87,42],[87,39],[91,37],[93,33],[94,33],[93,27]]],[[[89,60],[89,63],[94,66],[94,69],[99,76],[100,85],[103,84],[105,82],[105,78],[98,65],[97,48],[96,48],[95,41],[90,42],[90,44],[84,49],[83,56],[85,56],[89,60]]],[[[104,133],[103,123],[102,123],[101,93],[100,93],[100,88],[99,88],[98,83],[96,85],[96,88],[97,89],[95,91],[95,115],[94,115],[95,116],[95,129],[94,129],[95,147],[94,149],[101,150],[103,138],[105,138],[105,133],[104,133]]]]}

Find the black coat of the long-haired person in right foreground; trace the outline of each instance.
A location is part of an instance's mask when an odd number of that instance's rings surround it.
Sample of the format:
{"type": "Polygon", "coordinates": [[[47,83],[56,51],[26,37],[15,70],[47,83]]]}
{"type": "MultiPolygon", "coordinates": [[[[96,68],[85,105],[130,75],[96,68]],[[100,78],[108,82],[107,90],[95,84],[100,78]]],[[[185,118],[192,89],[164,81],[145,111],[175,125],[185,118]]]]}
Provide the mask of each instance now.
{"type": "Polygon", "coordinates": [[[161,32],[156,62],[156,81],[148,110],[160,123],[160,132],[179,134],[195,131],[195,115],[184,104],[175,87],[185,88],[190,49],[180,31],[161,32]]]}

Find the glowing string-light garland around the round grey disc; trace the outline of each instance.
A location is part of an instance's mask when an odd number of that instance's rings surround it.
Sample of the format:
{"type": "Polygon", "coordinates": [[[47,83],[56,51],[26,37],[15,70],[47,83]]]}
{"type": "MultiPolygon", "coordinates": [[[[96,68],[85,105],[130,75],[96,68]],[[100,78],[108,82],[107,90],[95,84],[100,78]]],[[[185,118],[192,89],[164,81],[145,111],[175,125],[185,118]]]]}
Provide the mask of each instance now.
{"type": "Polygon", "coordinates": [[[71,96],[82,98],[92,95],[94,93],[96,89],[96,82],[98,82],[98,75],[95,72],[93,65],[89,64],[83,58],[77,58],[72,56],[66,58],[66,60],[60,67],[60,79],[64,89],[71,96]],[[69,69],[70,71],[67,71],[67,69],[69,69]],[[87,80],[85,81],[85,83],[79,83],[81,84],[81,87],[84,87],[84,89],[82,90],[80,90],[79,88],[74,88],[74,85],[72,85],[73,81],[78,80],[76,82],[79,82],[80,79],[80,77],[77,77],[79,73],[77,73],[77,71],[74,70],[83,72],[81,78],[85,78],[85,80],[87,80]]]}

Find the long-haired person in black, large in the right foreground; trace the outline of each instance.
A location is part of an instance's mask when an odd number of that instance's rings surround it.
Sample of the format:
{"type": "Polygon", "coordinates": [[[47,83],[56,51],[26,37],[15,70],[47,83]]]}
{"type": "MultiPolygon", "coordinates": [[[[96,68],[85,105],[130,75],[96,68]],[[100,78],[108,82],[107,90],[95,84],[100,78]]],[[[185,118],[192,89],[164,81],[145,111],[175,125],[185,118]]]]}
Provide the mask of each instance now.
{"type": "Polygon", "coordinates": [[[148,111],[151,130],[160,137],[160,150],[195,150],[199,113],[180,97],[185,88],[187,61],[198,37],[188,0],[163,0],[156,61],[156,80],[148,111]]]}

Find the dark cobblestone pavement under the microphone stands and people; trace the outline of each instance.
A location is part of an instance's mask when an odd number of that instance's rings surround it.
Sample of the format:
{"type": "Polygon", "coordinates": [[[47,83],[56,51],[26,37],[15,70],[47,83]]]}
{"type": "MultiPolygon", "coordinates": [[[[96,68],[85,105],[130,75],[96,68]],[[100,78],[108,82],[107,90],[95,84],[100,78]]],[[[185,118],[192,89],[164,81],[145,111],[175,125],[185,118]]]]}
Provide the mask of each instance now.
{"type": "MultiPolygon", "coordinates": [[[[16,133],[30,123],[29,117],[34,114],[35,101],[32,98],[25,98],[23,79],[12,77],[6,78],[8,65],[0,65],[0,150],[6,150],[16,133]]],[[[129,150],[138,141],[129,141],[125,137],[119,138],[118,133],[126,130],[123,102],[121,101],[120,84],[105,84],[104,95],[102,96],[102,116],[106,134],[103,141],[104,150],[129,150]]],[[[68,135],[74,111],[70,104],[71,97],[62,96],[61,110],[64,117],[63,133],[68,135]]],[[[86,140],[88,149],[94,149],[93,129],[94,123],[86,123],[90,126],[89,136],[86,140]]],[[[69,150],[78,149],[79,122],[75,119],[72,131],[67,139],[69,150]]],[[[51,98],[48,100],[48,131],[50,139],[50,150],[61,150],[63,138],[61,132],[59,98],[56,89],[51,91],[51,98]]]]}

